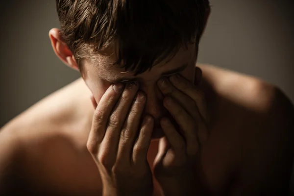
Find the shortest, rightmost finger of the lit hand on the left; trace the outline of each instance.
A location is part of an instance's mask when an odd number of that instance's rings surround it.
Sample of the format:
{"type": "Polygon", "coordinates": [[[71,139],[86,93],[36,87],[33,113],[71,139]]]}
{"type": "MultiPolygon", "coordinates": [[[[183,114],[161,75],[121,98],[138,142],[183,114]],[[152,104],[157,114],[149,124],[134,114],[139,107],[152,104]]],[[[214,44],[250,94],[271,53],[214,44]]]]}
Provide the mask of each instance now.
{"type": "Polygon", "coordinates": [[[142,163],[147,160],[147,152],[151,142],[154,120],[151,116],[145,116],[138,139],[133,148],[133,163],[142,163]]]}

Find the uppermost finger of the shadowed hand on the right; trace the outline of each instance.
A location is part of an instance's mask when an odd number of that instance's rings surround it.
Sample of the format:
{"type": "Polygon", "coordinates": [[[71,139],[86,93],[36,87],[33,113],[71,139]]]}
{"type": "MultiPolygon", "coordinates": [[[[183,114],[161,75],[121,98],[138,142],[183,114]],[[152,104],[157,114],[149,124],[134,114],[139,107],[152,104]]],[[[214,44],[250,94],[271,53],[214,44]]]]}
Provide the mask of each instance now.
{"type": "Polygon", "coordinates": [[[192,98],[196,106],[198,108],[198,111],[200,115],[207,120],[207,112],[206,112],[206,102],[204,98],[204,93],[200,91],[199,88],[197,88],[193,83],[188,81],[186,78],[181,76],[180,74],[175,74],[169,77],[169,80],[171,81],[172,85],[192,98]]]}

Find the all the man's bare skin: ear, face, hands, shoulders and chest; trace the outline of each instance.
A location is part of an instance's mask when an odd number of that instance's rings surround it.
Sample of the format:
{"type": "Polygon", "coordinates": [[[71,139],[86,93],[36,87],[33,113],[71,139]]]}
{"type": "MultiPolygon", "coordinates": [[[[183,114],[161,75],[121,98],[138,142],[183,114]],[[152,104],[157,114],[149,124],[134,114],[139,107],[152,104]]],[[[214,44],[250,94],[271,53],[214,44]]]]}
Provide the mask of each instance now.
{"type": "MultiPolygon", "coordinates": [[[[58,29],[49,36],[56,55],[78,70],[58,29]]],[[[134,89],[126,83],[120,92],[110,79],[134,76],[109,67],[115,56],[106,50],[97,65],[84,61],[85,82],[41,100],[1,129],[0,173],[6,175],[0,182],[18,179],[12,184],[26,186],[12,190],[43,195],[129,195],[142,189],[140,194],[154,195],[285,194],[293,164],[293,105],[259,79],[209,65],[196,68],[196,54],[196,46],[182,48],[136,76],[134,89]],[[161,75],[183,64],[188,66],[178,73],[180,82],[161,75]],[[160,87],[163,78],[166,88],[160,87]],[[134,102],[138,94],[145,98],[134,102]],[[110,124],[101,121],[115,117],[110,124]],[[150,122],[141,123],[146,117],[150,122]]]]}

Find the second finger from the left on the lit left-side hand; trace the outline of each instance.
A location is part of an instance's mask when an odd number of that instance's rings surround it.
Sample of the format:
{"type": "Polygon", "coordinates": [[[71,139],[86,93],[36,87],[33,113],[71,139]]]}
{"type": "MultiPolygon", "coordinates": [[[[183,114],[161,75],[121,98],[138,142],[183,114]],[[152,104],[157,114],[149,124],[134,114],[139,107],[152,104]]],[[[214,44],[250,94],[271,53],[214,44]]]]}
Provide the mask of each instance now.
{"type": "Polygon", "coordinates": [[[106,133],[101,144],[108,148],[109,153],[117,156],[119,140],[123,124],[129,113],[133,99],[139,89],[137,82],[126,84],[121,98],[116,103],[110,117],[108,119],[106,133]]]}

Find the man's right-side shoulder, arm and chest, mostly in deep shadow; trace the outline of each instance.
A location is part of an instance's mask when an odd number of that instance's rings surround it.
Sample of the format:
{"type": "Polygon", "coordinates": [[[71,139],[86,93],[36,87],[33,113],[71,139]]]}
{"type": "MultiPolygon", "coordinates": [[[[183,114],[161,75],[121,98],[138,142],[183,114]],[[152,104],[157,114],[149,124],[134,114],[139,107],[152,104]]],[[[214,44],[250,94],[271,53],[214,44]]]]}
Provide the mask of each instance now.
{"type": "Polygon", "coordinates": [[[234,141],[234,151],[241,157],[232,195],[285,194],[294,158],[293,103],[280,88],[261,79],[212,65],[197,66],[216,97],[215,119],[232,136],[223,139],[234,141]]]}

